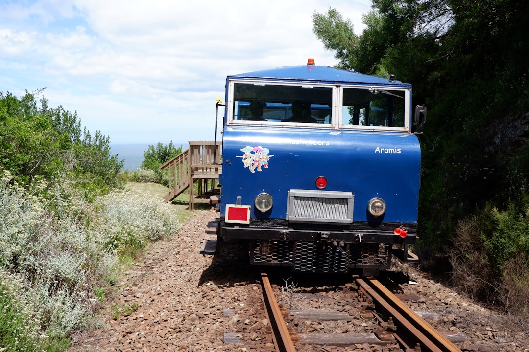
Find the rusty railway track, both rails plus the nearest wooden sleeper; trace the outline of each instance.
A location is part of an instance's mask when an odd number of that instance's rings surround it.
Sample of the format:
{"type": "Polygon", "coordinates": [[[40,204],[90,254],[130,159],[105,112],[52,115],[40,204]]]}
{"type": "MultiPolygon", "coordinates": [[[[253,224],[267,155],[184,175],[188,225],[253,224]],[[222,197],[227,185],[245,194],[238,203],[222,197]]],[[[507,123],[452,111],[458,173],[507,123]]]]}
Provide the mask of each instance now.
{"type": "MultiPolygon", "coordinates": [[[[353,279],[355,282],[352,286],[357,290],[357,299],[361,306],[368,309],[364,313],[371,313],[373,319],[378,321],[375,331],[363,334],[303,334],[303,343],[346,346],[353,345],[352,341],[359,339],[369,341],[365,342],[369,345],[398,345],[406,352],[461,352],[461,349],[409,309],[377,279],[358,276],[353,279]]],[[[263,269],[261,283],[276,350],[294,352],[294,341],[299,341],[300,337],[285,322],[284,309],[279,307],[268,274],[263,269]]]]}

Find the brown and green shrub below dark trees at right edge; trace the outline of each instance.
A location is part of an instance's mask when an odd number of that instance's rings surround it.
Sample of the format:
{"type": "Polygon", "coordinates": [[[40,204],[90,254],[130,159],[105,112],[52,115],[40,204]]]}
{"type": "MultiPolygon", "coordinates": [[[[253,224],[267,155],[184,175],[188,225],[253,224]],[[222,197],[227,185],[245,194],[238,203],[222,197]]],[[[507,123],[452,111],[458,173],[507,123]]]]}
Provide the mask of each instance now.
{"type": "MultiPolygon", "coordinates": [[[[522,202],[523,203],[523,202],[522,202]]],[[[459,290],[509,312],[529,305],[529,207],[510,203],[461,220],[448,252],[459,290]]]]}

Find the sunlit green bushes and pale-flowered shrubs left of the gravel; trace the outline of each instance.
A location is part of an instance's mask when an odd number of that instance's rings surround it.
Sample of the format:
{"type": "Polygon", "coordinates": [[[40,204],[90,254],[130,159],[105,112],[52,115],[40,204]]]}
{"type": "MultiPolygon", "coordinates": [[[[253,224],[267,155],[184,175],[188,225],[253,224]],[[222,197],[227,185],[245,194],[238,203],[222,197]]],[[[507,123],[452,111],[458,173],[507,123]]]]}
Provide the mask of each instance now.
{"type": "Polygon", "coordinates": [[[35,94],[0,93],[0,351],[66,350],[123,266],[178,231],[174,207],[124,191],[108,144],[35,94]]]}

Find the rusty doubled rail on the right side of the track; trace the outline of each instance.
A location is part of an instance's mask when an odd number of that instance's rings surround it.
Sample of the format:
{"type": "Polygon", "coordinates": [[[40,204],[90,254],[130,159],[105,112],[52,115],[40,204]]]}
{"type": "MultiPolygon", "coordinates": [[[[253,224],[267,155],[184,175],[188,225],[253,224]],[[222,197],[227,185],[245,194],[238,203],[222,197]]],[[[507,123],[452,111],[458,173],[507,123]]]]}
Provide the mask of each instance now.
{"type": "MultiPolygon", "coordinates": [[[[394,324],[398,325],[397,331],[399,339],[406,341],[407,344],[420,344],[421,351],[430,352],[462,352],[451,341],[444,337],[439,331],[435,330],[423,318],[399,300],[393,293],[384,287],[378,280],[373,277],[367,277],[362,280],[354,275],[355,281],[375,300],[389,316],[393,317],[394,324]],[[399,329],[400,328],[400,329],[399,329]],[[408,334],[403,338],[403,332],[408,334]]],[[[377,308],[379,309],[379,308],[377,308]]],[[[406,334],[404,334],[406,335],[406,334]]]]}

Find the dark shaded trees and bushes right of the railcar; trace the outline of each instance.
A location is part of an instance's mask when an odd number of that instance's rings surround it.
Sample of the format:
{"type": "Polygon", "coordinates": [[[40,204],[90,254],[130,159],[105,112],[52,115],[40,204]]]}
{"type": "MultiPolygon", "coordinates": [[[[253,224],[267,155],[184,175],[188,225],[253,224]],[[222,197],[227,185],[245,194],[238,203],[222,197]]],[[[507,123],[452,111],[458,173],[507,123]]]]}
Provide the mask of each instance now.
{"type": "Polygon", "coordinates": [[[428,107],[423,264],[510,312],[529,308],[528,15],[515,0],[372,0],[358,35],[336,9],[313,15],[340,68],[395,74],[428,107]]]}

